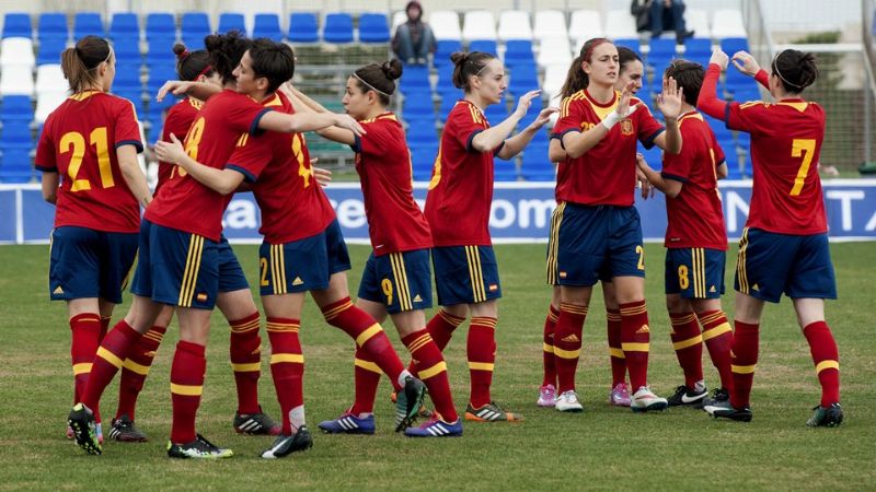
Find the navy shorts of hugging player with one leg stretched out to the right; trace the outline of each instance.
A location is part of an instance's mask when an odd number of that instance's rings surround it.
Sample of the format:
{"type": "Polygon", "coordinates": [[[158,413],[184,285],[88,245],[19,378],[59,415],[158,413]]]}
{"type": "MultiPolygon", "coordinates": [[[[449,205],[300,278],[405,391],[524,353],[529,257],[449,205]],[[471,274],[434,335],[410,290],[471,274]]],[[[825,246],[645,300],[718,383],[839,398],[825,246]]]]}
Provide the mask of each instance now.
{"type": "Polygon", "coordinates": [[[328,280],[350,269],[349,253],[337,219],[316,235],[258,248],[262,295],[328,289],[328,280]]]}

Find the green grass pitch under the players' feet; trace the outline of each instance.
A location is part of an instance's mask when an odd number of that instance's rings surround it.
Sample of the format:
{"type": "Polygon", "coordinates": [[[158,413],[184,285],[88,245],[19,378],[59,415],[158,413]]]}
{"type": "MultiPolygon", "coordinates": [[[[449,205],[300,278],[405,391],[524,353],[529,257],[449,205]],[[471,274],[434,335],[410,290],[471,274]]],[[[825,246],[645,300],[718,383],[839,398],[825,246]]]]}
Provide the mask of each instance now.
{"type": "MultiPolygon", "coordinates": [[[[235,246],[256,277],[256,246],[235,246]]],[[[368,254],[353,246],[350,285],[358,285],[368,254]]],[[[843,408],[839,429],[807,429],[819,389],[809,350],[791,303],[769,305],[761,330],[749,424],[715,421],[704,412],[673,408],[633,414],[607,405],[610,384],[601,294],[591,303],[578,368],[585,411],[561,414],[537,408],[541,382],[541,331],[550,290],[544,285],[544,245],[496,247],[503,280],[496,331],[498,355],[494,398],[526,417],[519,424],[465,423],[464,436],[411,440],[392,432],[389,384],[381,383],[374,436],[314,432],[314,447],[287,459],[257,458],[270,437],[239,436],[231,429],[234,385],[228,362],[228,326],[214,316],[208,374],[198,431],[232,459],[171,461],[169,368],[177,330],[165,337],[137,413],[146,444],[107,442],[104,455],[84,455],[65,438],[71,405],[70,333],[62,303],[49,303],[48,247],[0,247],[0,490],[863,490],[876,479],[876,330],[873,243],[831,246],[840,300],[829,302],[828,323],[840,348],[843,408]]],[[[652,387],[661,396],[682,380],[669,340],[662,296],[660,245],[647,245],[647,302],[652,326],[652,387]]],[[[733,314],[735,249],[728,251],[724,308],[733,314]]],[[[119,306],[114,323],[126,311],[119,306]]],[[[263,321],[264,326],[264,321],[263,321]]],[[[458,409],[464,410],[469,375],[466,326],[451,341],[447,359],[458,409]]],[[[397,335],[384,325],[391,339],[397,335]]],[[[304,396],[310,426],[337,417],[353,398],[348,338],[327,326],[308,301],[301,324],[307,361],[304,396]]],[[[269,353],[263,328],[263,353],[269,353]]],[[[400,352],[401,353],[401,352],[400,352]]],[[[705,351],[704,351],[705,354],[705,351]]],[[[403,355],[403,359],[407,359],[403,355]]],[[[262,359],[260,398],[278,418],[267,358],[262,359]]],[[[706,382],[717,375],[704,360],[706,382]]],[[[102,402],[112,417],[117,378],[102,402]]]]}

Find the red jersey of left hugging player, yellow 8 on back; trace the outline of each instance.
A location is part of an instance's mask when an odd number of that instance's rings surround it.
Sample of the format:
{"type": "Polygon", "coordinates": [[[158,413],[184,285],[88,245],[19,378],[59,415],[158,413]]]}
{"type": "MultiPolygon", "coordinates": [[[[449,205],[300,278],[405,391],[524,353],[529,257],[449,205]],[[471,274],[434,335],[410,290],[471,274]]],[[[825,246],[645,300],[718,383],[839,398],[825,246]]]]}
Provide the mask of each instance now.
{"type": "MultiPolygon", "coordinates": [[[[195,161],[222,169],[237,145],[258,129],[258,120],[270,109],[245,95],[224,90],[210,97],[195,117],[185,137],[185,149],[195,161]]],[[[257,140],[260,137],[253,138],[257,140]]],[[[150,222],[219,242],[222,213],[231,195],[221,195],[174,167],[171,177],[147,207],[150,222]]]]}

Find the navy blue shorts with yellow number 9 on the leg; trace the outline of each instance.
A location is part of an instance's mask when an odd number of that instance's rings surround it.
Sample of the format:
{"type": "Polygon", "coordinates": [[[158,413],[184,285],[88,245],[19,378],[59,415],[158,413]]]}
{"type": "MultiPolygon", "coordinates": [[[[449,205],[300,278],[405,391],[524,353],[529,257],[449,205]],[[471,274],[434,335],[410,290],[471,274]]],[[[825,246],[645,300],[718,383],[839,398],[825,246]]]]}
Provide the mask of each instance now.
{"type": "Polygon", "coordinates": [[[429,250],[390,253],[368,257],[359,297],[387,306],[387,313],[431,307],[431,270],[429,250]]]}

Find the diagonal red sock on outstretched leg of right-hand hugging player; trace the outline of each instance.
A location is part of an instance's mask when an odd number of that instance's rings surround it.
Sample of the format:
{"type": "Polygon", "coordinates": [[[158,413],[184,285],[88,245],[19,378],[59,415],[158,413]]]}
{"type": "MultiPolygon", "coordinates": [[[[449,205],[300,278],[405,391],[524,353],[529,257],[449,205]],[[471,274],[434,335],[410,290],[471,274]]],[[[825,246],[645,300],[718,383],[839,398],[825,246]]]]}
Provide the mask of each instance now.
{"type": "Polygon", "coordinates": [[[356,340],[357,347],[361,347],[371,355],[380,370],[389,376],[396,391],[402,388],[399,375],[404,371],[404,366],[383,328],[374,318],[354,306],[349,297],[323,306],[322,314],[326,323],[344,330],[356,340]]]}

